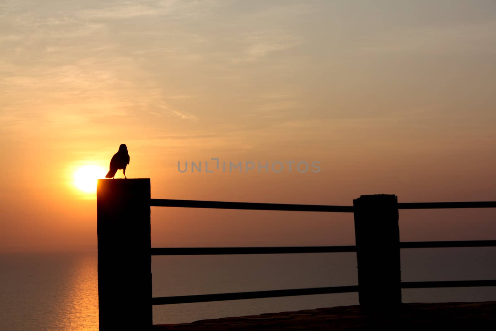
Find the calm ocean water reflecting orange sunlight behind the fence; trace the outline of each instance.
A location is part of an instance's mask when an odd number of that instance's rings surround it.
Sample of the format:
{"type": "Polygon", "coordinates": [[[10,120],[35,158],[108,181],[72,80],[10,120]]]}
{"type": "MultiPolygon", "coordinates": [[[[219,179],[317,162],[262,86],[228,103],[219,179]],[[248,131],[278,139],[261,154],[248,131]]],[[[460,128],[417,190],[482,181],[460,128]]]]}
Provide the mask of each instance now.
{"type": "MultiPolygon", "coordinates": [[[[496,279],[496,248],[402,250],[402,280],[496,279]]],[[[153,296],[357,284],[354,253],[153,257],[153,296]]],[[[403,302],[494,301],[496,287],[409,289],[403,302]]],[[[357,293],[155,306],[154,324],[358,304],[357,293]]],[[[96,253],[0,255],[0,330],[98,330],[96,253]]]]}

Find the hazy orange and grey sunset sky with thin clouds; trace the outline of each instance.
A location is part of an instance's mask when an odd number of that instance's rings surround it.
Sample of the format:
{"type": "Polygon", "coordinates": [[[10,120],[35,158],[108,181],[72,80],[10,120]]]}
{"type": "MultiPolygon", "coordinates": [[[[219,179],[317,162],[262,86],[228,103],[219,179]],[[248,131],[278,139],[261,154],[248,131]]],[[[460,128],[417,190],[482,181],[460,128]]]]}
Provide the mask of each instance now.
{"type": "MultiPolygon", "coordinates": [[[[74,173],[121,143],[156,199],[494,201],[495,58],[493,0],[0,0],[0,252],[95,250],[74,173]],[[178,171],[212,158],[284,167],[178,171]]],[[[354,243],[348,213],[151,217],[154,247],[354,243]]],[[[495,233],[493,208],[400,211],[404,241],[495,233]]]]}

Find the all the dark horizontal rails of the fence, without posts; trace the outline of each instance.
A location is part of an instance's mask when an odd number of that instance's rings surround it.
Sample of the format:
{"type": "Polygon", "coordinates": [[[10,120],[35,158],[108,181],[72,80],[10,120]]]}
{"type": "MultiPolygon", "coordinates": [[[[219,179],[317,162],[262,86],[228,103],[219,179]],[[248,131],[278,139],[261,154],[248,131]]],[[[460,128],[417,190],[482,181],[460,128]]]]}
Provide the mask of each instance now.
{"type": "MultiPolygon", "coordinates": [[[[242,210],[282,210],[282,211],[319,211],[319,212],[354,212],[353,206],[227,202],[205,200],[150,199],[152,207],[187,207],[218,208],[242,210]]],[[[496,207],[496,201],[475,202],[398,202],[398,209],[444,209],[444,208],[490,208],[496,207]]],[[[469,241],[413,241],[400,242],[399,248],[440,248],[440,247],[496,247],[496,240],[469,241]]],[[[191,247],[191,248],[152,248],[152,256],[165,255],[236,255],[236,254],[291,254],[291,253],[343,253],[357,252],[356,246],[303,246],[303,247],[191,247]]],[[[496,286],[496,280],[464,281],[421,281],[401,282],[401,288],[432,287],[469,287],[496,286]]],[[[329,293],[358,292],[358,285],[318,288],[300,288],[275,291],[253,291],[237,293],[200,294],[152,298],[152,305],[179,303],[260,299],[282,296],[314,295],[329,293]]]]}

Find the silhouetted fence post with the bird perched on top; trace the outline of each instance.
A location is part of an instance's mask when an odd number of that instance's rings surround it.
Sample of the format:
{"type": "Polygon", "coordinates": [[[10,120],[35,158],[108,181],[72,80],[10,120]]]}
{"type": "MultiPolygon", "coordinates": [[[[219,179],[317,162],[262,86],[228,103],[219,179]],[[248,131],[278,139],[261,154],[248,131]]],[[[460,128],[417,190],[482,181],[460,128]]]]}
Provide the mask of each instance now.
{"type": "Polygon", "coordinates": [[[97,188],[100,331],[152,322],[150,179],[100,179],[97,188]]]}

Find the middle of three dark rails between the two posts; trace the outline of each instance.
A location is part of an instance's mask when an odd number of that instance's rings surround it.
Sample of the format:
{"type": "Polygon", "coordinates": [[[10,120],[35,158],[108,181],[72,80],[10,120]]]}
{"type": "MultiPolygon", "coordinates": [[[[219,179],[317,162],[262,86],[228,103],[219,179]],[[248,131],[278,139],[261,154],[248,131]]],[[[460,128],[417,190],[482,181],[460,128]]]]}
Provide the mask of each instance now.
{"type": "Polygon", "coordinates": [[[356,246],[152,248],[151,255],[223,255],[356,252],[356,246]]]}

